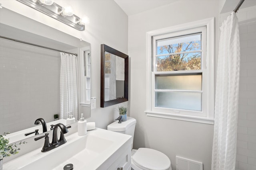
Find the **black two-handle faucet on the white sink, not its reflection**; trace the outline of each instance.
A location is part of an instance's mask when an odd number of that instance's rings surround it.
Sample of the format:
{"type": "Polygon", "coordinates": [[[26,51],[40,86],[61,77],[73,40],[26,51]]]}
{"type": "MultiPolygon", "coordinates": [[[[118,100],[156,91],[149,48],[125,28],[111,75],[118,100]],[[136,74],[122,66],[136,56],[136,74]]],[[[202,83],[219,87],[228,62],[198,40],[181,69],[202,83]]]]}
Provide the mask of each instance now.
{"type": "Polygon", "coordinates": [[[54,129],[53,129],[53,133],[52,133],[52,143],[49,142],[49,137],[48,137],[49,133],[46,133],[45,136],[35,138],[35,141],[44,138],[44,146],[41,151],[48,152],[49,150],[59,147],[60,145],[63,145],[64,143],[67,142],[64,137],[64,134],[68,133],[68,128],[69,127],[66,127],[62,123],[58,123],[58,124],[54,125],[54,129]],[[57,135],[58,127],[60,127],[60,130],[61,130],[59,140],[58,140],[58,135],[57,135]]]}

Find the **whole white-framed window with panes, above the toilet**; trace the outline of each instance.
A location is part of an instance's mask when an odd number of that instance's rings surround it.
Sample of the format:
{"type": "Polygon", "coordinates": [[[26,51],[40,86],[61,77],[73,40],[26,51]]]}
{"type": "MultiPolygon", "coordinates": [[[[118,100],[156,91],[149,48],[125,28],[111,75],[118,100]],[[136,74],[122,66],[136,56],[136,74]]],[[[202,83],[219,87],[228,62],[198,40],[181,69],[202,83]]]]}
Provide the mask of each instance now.
{"type": "Polygon", "coordinates": [[[147,33],[148,116],[213,124],[214,19],[147,33]]]}

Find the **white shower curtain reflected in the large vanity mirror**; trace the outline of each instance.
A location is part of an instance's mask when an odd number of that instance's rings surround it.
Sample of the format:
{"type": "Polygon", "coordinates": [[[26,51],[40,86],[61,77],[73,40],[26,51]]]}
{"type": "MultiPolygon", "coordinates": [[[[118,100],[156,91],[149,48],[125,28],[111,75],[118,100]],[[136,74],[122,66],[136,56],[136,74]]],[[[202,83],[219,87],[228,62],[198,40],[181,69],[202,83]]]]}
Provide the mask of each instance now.
{"type": "Polygon", "coordinates": [[[60,117],[66,119],[67,112],[72,111],[74,117],[78,113],[78,63],[75,55],[60,53],[60,57],[60,117]]]}

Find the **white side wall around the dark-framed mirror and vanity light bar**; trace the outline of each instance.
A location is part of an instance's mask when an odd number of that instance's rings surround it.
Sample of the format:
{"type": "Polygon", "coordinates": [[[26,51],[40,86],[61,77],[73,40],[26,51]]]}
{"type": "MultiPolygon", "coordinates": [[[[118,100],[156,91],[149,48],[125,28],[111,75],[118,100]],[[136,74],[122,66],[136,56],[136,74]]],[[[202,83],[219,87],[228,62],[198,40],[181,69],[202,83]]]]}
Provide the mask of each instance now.
{"type": "MultiPolygon", "coordinates": [[[[106,129],[107,125],[118,117],[118,113],[114,113],[114,108],[117,106],[100,108],[100,44],[104,43],[127,54],[128,17],[113,0],[56,0],[55,2],[60,6],[71,4],[74,14],[79,17],[88,16],[90,24],[86,25],[86,30],[78,31],[15,0],[0,0],[4,8],[91,43],[91,97],[96,97],[96,109],[92,110],[88,121],[95,121],[96,127],[106,129]]],[[[21,24],[27,31],[40,32],[40,29],[30,28],[22,21],[21,24]]],[[[128,105],[128,102],[124,104],[128,105]]]]}

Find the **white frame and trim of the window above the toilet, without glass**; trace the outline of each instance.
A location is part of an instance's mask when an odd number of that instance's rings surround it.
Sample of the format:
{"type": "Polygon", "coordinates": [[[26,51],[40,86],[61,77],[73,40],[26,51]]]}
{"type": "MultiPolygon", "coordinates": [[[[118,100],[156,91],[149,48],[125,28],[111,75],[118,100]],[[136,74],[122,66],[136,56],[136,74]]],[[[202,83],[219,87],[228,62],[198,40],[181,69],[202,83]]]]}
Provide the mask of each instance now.
{"type": "MultiPolygon", "coordinates": [[[[204,44],[204,43],[203,43],[204,44]]],[[[203,45],[202,44],[202,45],[203,45]]],[[[153,117],[162,117],[169,119],[178,119],[184,121],[193,121],[199,123],[214,124],[214,18],[194,21],[164,29],[158,29],[146,33],[146,61],[147,61],[147,75],[146,75],[146,115],[153,117]],[[204,31],[203,29],[206,28],[204,31]],[[178,35],[186,35],[191,33],[202,32],[202,40],[206,36],[206,48],[202,46],[202,69],[201,70],[181,70],[170,72],[153,72],[152,71],[152,47],[156,47],[156,40],[163,36],[170,35],[175,37],[178,35]],[[202,55],[203,56],[203,55],[202,55]],[[205,57],[206,56],[206,57],[205,57]],[[179,73],[198,73],[202,72],[202,111],[188,111],[181,109],[167,109],[154,107],[154,78],[159,74],[179,74],[179,73]]]]}

